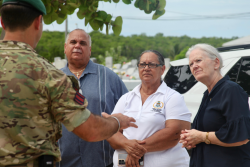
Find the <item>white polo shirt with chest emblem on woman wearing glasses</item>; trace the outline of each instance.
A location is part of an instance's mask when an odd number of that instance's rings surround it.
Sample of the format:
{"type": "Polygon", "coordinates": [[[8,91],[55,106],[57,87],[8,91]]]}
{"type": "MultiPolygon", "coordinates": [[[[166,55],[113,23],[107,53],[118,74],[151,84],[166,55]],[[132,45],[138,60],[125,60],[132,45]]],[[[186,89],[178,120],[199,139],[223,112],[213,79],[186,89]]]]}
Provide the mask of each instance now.
{"type": "MultiPolygon", "coordinates": [[[[187,109],[183,96],[169,88],[165,82],[150,95],[142,105],[141,84],[131,92],[124,94],[117,102],[114,113],[122,113],[133,117],[138,128],[127,128],[123,135],[128,139],[143,140],[155,132],[165,128],[165,121],[177,119],[191,122],[191,113],[187,109]]],[[[118,167],[118,153],[113,156],[114,167],[118,167]]],[[[175,147],[164,151],[149,152],[144,155],[144,167],[188,167],[189,155],[178,143],[175,147]]]]}

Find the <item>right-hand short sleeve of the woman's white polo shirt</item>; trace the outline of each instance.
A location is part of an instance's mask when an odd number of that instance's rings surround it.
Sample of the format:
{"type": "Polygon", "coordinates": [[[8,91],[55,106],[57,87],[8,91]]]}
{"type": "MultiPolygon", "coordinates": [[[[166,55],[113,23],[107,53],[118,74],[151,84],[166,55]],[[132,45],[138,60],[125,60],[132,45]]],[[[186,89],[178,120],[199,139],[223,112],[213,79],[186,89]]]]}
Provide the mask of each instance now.
{"type": "Polygon", "coordinates": [[[191,122],[191,112],[188,110],[184,98],[179,93],[174,93],[165,102],[166,120],[178,119],[191,122]]]}

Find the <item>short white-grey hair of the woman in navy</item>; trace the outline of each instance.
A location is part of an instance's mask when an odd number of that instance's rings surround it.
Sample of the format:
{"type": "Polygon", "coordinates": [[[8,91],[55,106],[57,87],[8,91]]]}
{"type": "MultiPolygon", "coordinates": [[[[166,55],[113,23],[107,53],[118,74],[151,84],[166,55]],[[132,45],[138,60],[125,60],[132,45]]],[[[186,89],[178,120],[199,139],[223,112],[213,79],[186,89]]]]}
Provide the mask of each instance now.
{"type": "Polygon", "coordinates": [[[209,45],[209,44],[205,44],[205,43],[200,43],[200,44],[193,45],[193,46],[191,46],[191,47],[188,49],[188,51],[187,51],[187,53],[186,53],[186,57],[189,58],[190,53],[191,53],[193,50],[195,50],[195,49],[200,49],[200,50],[204,51],[204,52],[206,53],[206,55],[207,55],[211,60],[215,60],[216,58],[218,58],[219,61],[220,61],[220,67],[219,67],[219,69],[221,69],[221,68],[223,67],[222,58],[221,58],[221,56],[220,56],[220,53],[218,52],[218,50],[217,50],[215,47],[213,47],[213,46],[211,46],[211,45],[209,45]]]}

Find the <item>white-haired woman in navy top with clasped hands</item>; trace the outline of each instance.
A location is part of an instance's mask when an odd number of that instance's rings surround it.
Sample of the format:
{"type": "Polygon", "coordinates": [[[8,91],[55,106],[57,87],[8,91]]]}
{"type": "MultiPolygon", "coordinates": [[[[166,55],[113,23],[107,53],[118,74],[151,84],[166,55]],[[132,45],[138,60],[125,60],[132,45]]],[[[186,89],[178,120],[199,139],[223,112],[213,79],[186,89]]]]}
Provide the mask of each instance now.
{"type": "Polygon", "coordinates": [[[183,130],[180,143],[193,148],[190,167],[249,167],[250,112],[247,93],[228,76],[222,59],[208,44],[186,53],[195,79],[207,86],[192,130],[183,130]]]}

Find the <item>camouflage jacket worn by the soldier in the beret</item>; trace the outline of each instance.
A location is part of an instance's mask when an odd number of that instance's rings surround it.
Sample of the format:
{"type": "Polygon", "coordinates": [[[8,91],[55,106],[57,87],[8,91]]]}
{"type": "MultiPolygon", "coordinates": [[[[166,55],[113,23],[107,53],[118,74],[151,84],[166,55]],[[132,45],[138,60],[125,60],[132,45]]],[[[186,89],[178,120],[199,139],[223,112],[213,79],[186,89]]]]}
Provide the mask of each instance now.
{"type": "Polygon", "coordinates": [[[0,41],[0,166],[41,155],[59,161],[61,123],[72,131],[90,116],[76,102],[78,83],[28,45],[0,41]]]}

